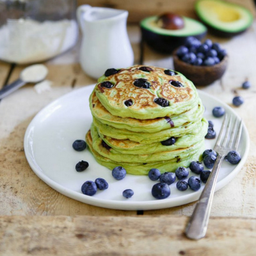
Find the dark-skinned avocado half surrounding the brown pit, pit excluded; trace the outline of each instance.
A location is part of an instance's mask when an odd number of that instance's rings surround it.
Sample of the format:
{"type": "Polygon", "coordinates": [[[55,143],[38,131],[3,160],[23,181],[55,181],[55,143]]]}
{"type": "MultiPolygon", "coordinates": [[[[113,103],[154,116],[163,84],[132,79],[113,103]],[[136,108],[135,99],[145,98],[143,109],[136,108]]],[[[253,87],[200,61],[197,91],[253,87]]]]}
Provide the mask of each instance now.
{"type": "Polygon", "coordinates": [[[163,29],[157,26],[157,16],[147,17],[140,22],[142,40],[157,52],[172,53],[180,45],[184,45],[188,36],[201,40],[207,28],[197,20],[183,17],[184,28],[163,29]]]}

